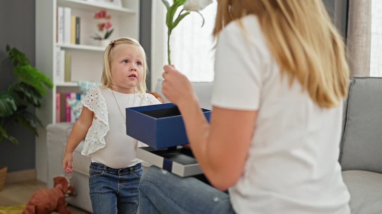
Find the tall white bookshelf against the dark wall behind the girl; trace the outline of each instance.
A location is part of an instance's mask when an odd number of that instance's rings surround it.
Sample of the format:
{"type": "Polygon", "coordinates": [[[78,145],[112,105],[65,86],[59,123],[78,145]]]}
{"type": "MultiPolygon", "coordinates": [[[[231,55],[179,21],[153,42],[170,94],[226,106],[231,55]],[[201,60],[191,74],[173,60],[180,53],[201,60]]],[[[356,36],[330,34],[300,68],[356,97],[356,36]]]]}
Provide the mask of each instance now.
{"type": "Polygon", "coordinates": [[[109,40],[132,37],[139,40],[139,0],[122,0],[122,7],[104,5],[102,0],[36,0],[36,67],[53,81],[53,89],[47,90],[41,109],[36,115],[44,128],[39,128],[36,137],[37,179],[47,182],[46,126],[55,123],[56,92],[78,91],[75,81],[100,81],[102,57],[106,47],[92,45],[90,36],[97,32],[94,13],[106,10],[112,16],[114,31],[109,40]],[[79,16],[80,44],[58,44],[56,42],[57,6],[71,8],[71,15],[79,16]],[[55,51],[57,48],[71,54],[71,81],[58,83],[55,79],[55,51]]]}

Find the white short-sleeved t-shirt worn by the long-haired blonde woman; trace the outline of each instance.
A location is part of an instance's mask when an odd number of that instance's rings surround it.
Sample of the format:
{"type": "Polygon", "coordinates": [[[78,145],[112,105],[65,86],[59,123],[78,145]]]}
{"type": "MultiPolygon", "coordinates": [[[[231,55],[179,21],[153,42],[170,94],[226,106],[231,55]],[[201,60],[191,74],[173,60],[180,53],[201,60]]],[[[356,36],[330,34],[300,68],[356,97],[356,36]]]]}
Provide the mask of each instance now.
{"type": "Polygon", "coordinates": [[[217,107],[258,110],[244,172],[229,189],[235,212],[350,213],[338,163],[342,106],[322,109],[298,81],[290,88],[256,16],[242,21],[248,37],[236,22],[219,35],[212,93],[217,107]]]}

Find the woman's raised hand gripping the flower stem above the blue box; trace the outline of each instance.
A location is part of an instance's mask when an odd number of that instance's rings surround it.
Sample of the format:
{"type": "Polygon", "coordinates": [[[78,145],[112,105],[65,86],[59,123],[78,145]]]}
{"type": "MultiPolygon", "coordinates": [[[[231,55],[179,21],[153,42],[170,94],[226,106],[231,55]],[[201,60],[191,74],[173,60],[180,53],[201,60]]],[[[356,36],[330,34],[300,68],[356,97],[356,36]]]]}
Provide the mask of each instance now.
{"type": "Polygon", "coordinates": [[[167,99],[177,106],[184,105],[197,100],[193,86],[188,78],[180,73],[172,65],[163,67],[162,93],[167,99]]]}

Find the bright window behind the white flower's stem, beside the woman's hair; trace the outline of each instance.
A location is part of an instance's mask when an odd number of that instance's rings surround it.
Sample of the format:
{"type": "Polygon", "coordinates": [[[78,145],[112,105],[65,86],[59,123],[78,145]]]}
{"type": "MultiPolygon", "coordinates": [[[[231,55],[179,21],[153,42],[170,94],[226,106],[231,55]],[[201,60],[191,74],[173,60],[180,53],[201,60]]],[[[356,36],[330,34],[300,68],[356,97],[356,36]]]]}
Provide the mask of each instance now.
{"type": "MultiPolygon", "coordinates": [[[[191,12],[178,26],[173,29],[170,36],[171,64],[184,73],[190,81],[214,80],[214,51],[212,44],[212,29],[215,26],[217,2],[208,5],[201,14],[202,17],[191,12]]],[[[177,14],[179,11],[175,14],[177,14]]],[[[166,27],[167,32],[167,27],[166,27]]],[[[167,48],[167,35],[165,44],[167,48]]],[[[167,51],[165,51],[167,54],[167,51]]],[[[167,56],[165,57],[167,64],[167,56]]]]}

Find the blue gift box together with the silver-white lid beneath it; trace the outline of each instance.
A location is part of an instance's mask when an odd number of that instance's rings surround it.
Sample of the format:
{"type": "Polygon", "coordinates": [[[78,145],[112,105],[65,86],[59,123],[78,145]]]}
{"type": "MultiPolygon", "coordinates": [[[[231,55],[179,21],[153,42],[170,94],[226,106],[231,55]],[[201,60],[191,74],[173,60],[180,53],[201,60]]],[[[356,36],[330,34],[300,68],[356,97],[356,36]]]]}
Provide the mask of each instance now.
{"type": "MultiPolygon", "coordinates": [[[[209,121],[211,111],[201,111],[209,121]]],[[[202,174],[191,150],[178,146],[188,144],[188,139],[176,105],[127,108],[126,118],[126,134],[150,146],[138,148],[137,158],[181,177],[202,174]]]]}

